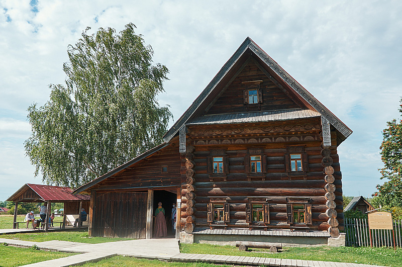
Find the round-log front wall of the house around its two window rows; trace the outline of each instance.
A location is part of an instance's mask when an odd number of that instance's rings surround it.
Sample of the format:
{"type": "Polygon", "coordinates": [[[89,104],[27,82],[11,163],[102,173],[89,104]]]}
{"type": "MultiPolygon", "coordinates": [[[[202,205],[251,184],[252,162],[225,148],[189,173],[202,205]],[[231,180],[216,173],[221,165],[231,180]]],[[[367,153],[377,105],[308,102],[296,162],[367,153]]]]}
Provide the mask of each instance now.
{"type": "MultiPolygon", "coordinates": [[[[336,142],[336,134],[332,134],[333,144],[336,142]]],[[[207,203],[210,202],[208,197],[228,197],[230,203],[230,228],[247,228],[246,223],[246,203],[248,197],[267,197],[270,205],[270,221],[268,228],[274,229],[289,229],[290,225],[286,223],[286,197],[311,197],[312,212],[313,212],[313,225],[309,226],[318,230],[327,230],[329,225],[327,223],[329,217],[325,214],[328,209],[326,207],[326,199],[324,197],[326,191],[324,186],[323,165],[321,161],[321,140],[304,142],[305,152],[308,154],[309,171],[307,172],[306,180],[304,177],[292,177],[289,180],[285,173],[284,166],[284,153],[286,153],[285,145],[288,143],[276,144],[259,144],[257,147],[264,148],[264,154],[267,156],[267,173],[265,181],[256,179],[247,181],[247,176],[244,170],[244,156],[247,154],[247,146],[234,146],[228,145],[226,147],[220,145],[215,146],[194,146],[195,155],[195,183],[196,188],[194,193],[195,198],[195,227],[208,228],[207,222],[207,203]],[[229,156],[229,173],[227,174],[227,181],[210,181],[209,174],[207,173],[207,156],[210,155],[209,150],[216,148],[227,148],[227,155],[229,156]]],[[[331,157],[334,163],[332,166],[335,169],[335,182],[336,185],[336,211],[338,212],[338,221],[340,230],[343,229],[343,205],[342,205],[342,174],[340,171],[339,157],[337,154],[336,145],[329,147],[331,149],[331,157]]],[[[183,168],[184,169],[184,168],[183,168]]],[[[182,171],[183,173],[183,171],[182,171]]],[[[181,207],[181,226],[184,227],[186,223],[186,198],[187,184],[185,183],[185,175],[182,175],[182,201],[181,207]]]]}

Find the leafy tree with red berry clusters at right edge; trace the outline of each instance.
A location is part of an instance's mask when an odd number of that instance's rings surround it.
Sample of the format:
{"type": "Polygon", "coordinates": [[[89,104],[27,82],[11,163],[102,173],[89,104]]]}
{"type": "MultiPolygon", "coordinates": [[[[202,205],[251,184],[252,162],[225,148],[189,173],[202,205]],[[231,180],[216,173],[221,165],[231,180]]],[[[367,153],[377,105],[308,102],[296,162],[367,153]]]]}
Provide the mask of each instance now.
{"type": "MultiPolygon", "coordinates": [[[[400,100],[402,103],[402,98],[400,100]]],[[[402,105],[399,105],[402,116],[402,105]]],[[[383,185],[377,185],[376,201],[382,206],[402,207],[402,120],[387,122],[382,132],[381,160],[384,167],[379,169],[380,179],[387,179],[383,185]]]]}

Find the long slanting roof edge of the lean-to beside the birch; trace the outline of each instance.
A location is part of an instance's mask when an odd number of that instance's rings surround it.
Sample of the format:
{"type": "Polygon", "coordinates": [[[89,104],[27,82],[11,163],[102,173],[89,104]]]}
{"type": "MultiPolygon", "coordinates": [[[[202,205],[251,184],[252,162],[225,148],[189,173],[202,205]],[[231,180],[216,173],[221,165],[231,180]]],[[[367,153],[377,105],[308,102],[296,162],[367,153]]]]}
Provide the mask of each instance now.
{"type": "Polygon", "coordinates": [[[120,165],[119,167],[117,167],[115,169],[112,169],[111,171],[109,171],[108,173],[105,173],[104,175],[98,177],[97,179],[95,179],[95,180],[93,180],[93,181],[91,181],[91,182],[89,182],[89,183],[87,183],[87,184],[85,184],[83,186],[80,186],[79,188],[75,189],[74,192],[72,192],[72,194],[77,194],[79,192],[87,190],[88,188],[90,188],[90,187],[92,187],[92,186],[94,186],[94,185],[96,185],[96,184],[108,179],[113,174],[116,174],[116,173],[124,170],[125,168],[130,167],[131,165],[137,163],[138,161],[140,161],[140,160],[142,160],[142,159],[144,159],[144,158],[156,153],[157,151],[159,151],[159,150],[161,150],[161,149],[163,149],[163,148],[165,148],[167,146],[169,146],[169,144],[167,144],[167,143],[162,143],[162,144],[160,144],[158,146],[155,146],[154,148],[142,153],[141,155],[133,158],[132,160],[127,161],[123,165],[120,165]]]}

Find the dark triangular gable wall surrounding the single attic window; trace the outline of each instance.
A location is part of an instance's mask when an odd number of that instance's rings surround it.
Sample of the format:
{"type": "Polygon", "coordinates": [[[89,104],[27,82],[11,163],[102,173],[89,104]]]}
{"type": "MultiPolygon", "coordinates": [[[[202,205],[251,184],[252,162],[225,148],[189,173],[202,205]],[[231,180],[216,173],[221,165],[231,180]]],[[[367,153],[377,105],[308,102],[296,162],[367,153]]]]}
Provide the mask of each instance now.
{"type": "MultiPolygon", "coordinates": [[[[252,80],[262,80],[260,83],[263,98],[261,111],[300,108],[286,96],[253,61],[250,61],[228,86],[222,96],[218,98],[207,114],[221,114],[223,111],[225,113],[246,112],[246,105],[243,103],[243,90],[246,90],[246,86],[242,84],[242,82],[252,80]]],[[[257,110],[250,108],[249,111],[257,110]]]]}

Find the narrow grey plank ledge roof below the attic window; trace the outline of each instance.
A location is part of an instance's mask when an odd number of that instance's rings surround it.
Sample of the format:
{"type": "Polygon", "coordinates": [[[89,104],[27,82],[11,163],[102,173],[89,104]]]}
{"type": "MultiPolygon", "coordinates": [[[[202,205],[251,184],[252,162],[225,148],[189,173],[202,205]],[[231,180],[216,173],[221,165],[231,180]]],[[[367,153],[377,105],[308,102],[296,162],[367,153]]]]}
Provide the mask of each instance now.
{"type": "Polygon", "coordinates": [[[279,111],[263,111],[263,112],[245,112],[232,114],[205,115],[190,120],[187,125],[202,124],[232,124],[232,123],[253,123],[253,122],[269,122],[269,121],[286,121],[294,119],[304,119],[321,117],[321,114],[313,110],[279,110],[279,111]]]}

